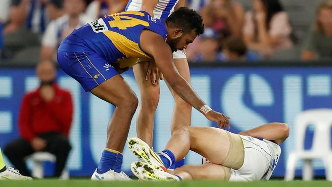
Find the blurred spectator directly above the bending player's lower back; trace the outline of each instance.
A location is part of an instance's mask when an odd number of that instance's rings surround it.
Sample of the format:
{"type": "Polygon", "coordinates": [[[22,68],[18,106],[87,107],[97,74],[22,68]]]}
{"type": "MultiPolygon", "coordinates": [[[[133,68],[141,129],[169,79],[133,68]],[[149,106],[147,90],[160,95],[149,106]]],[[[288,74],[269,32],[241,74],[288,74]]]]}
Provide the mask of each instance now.
{"type": "Polygon", "coordinates": [[[89,17],[98,19],[104,15],[124,11],[127,3],[128,0],[94,0],[88,5],[85,13],[89,17]]]}

